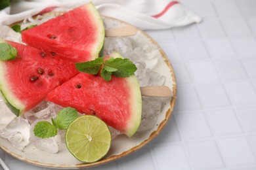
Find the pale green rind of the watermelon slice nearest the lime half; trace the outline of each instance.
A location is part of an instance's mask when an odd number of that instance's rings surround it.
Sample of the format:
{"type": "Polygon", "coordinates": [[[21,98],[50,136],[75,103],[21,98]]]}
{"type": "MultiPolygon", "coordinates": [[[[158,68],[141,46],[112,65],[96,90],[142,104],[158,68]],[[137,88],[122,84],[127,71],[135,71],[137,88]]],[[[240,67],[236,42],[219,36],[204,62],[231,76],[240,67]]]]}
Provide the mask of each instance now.
{"type": "MultiPolygon", "coordinates": [[[[113,58],[123,58],[118,52],[114,52],[111,55],[113,58]]],[[[124,133],[128,137],[132,137],[140,126],[141,115],[142,115],[142,97],[140,92],[140,84],[135,75],[126,77],[127,84],[130,90],[130,109],[131,117],[127,120],[126,130],[124,133]]]]}

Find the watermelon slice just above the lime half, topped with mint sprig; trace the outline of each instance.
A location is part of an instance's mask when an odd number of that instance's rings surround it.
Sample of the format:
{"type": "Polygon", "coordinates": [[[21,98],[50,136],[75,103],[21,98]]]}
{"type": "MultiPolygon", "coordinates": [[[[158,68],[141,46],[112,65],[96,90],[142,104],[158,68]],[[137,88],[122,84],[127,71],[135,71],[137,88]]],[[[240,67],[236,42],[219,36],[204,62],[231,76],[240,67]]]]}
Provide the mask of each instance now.
{"type": "MultiPolygon", "coordinates": [[[[112,57],[121,57],[114,53],[112,57]]],[[[79,73],[47,95],[47,100],[62,107],[74,107],[93,114],[131,137],[140,125],[142,99],[135,75],[112,76],[106,82],[99,75],[79,73]]]]}

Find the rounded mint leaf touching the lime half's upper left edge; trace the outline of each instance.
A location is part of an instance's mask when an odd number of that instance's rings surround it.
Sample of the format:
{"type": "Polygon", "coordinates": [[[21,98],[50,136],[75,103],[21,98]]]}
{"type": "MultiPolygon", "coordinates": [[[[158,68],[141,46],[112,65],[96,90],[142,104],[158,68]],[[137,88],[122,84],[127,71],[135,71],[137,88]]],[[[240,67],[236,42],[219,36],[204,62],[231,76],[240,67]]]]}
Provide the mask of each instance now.
{"type": "Polygon", "coordinates": [[[78,112],[72,107],[66,107],[58,112],[55,120],[52,120],[57,129],[68,129],[68,126],[78,117],[78,112]]]}

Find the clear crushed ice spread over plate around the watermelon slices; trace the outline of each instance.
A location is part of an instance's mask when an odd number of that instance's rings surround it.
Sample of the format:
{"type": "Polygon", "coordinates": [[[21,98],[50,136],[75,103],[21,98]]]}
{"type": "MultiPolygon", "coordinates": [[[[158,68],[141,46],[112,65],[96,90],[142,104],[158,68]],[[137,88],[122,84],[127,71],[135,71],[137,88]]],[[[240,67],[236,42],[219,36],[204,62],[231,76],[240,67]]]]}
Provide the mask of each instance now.
{"type": "MultiPolygon", "coordinates": [[[[22,24],[21,29],[30,25],[39,25],[53,16],[28,17],[22,24]]],[[[20,34],[9,27],[0,27],[0,38],[20,42],[20,34]]],[[[106,37],[104,44],[104,55],[119,52],[123,57],[131,59],[137,66],[135,75],[139,80],[140,86],[161,86],[165,82],[165,77],[152,71],[158,66],[159,49],[148,43],[138,43],[131,37],[106,37]]],[[[163,101],[159,97],[142,97],[142,120],[138,131],[146,131],[156,126],[158,114],[163,107],[163,101]]],[[[64,144],[65,131],[58,131],[58,135],[48,139],[40,139],[33,135],[33,127],[41,120],[51,122],[51,118],[62,107],[44,101],[38,107],[24,114],[24,118],[16,118],[14,114],[5,106],[3,99],[0,98],[0,137],[7,139],[11,144],[22,150],[29,143],[33,143],[39,150],[46,152],[58,152],[58,144],[64,144]]],[[[110,127],[112,139],[121,134],[120,131],[110,127]]]]}

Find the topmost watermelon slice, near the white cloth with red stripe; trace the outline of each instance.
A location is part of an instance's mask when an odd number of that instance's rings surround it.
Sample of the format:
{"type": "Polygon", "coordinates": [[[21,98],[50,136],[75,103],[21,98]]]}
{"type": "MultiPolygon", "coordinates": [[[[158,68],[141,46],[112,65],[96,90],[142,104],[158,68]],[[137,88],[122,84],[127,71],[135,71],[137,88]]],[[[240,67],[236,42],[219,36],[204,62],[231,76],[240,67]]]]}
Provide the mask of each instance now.
{"type": "Polygon", "coordinates": [[[93,3],[22,31],[22,41],[29,46],[74,62],[102,56],[104,37],[104,24],[93,3]]]}

